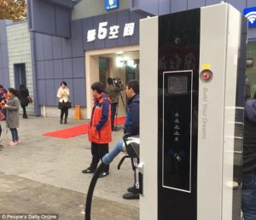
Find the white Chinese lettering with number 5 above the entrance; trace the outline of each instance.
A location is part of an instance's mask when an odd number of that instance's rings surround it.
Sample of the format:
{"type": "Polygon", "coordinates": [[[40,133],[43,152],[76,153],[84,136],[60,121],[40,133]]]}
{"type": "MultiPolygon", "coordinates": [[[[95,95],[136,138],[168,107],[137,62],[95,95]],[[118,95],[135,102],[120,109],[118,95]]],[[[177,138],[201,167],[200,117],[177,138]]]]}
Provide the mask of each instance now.
{"type": "Polygon", "coordinates": [[[120,26],[108,26],[108,21],[99,23],[98,29],[90,29],[87,31],[87,43],[93,42],[96,38],[103,39],[116,39],[119,34],[123,37],[131,37],[134,33],[135,23],[126,23],[122,28],[120,26]]]}

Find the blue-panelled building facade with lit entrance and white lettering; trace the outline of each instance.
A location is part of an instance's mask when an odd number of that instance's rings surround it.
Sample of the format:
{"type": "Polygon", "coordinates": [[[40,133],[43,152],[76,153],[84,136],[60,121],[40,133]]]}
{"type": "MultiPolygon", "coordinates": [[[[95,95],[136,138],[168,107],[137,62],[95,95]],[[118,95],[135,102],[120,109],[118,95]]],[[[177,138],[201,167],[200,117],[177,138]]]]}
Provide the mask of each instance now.
{"type": "MultiPolygon", "coordinates": [[[[256,0],[225,2],[241,13],[256,6],[256,0]]],[[[122,0],[116,9],[110,9],[115,3],[118,1],[27,1],[27,21],[0,21],[0,84],[16,88],[20,74],[24,74],[19,68],[23,67],[34,100],[29,113],[58,116],[56,91],[61,81],[66,81],[73,106],[82,107],[83,118],[90,118],[90,84],[106,84],[108,77],[120,78],[125,84],[146,74],[139,72],[139,20],[220,1],[122,0]]],[[[256,27],[250,27],[248,61],[256,58],[255,38],[256,27]]],[[[256,91],[255,71],[254,62],[247,67],[252,95],[256,91]]],[[[125,93],[120,91],[119,115],[125,114],[125,104],[125,93]]]]}

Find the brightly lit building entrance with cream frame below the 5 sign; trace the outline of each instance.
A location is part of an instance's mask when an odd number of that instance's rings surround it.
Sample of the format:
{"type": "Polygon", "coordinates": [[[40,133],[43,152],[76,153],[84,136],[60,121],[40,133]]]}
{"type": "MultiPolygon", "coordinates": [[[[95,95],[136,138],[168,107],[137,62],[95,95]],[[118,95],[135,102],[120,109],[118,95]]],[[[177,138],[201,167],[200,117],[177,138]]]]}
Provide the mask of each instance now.
{"type": "MultiPolygon", "coordinates": [[[[130,79],[139,79],[139,47],[137,45],[113,49],[99,49],[85,52],[86,78],[86,115],[90,118],[91,98],[90,85],[96,81],[107,85],[107,78],[120,78],[125,85],[130,79]]],[[[126,103],[125,90],[121,95],[126,103]]],[[[125,107],[119,100],[119,116],[125,116],[125,107]]]]}

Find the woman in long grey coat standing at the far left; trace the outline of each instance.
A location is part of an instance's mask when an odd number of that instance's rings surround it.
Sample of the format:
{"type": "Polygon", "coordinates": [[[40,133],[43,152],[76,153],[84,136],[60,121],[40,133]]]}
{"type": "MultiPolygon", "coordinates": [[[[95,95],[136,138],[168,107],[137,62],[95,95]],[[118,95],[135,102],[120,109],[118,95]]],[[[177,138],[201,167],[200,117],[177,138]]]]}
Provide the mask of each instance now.
{"type": "Polygon", "coordinates": [[[15,145],[20,143],[18,130],[19,127],[19,108],[20,108],[20,94],[17,90],[13,88],[9,88],[7,90],[8,100],[7,103],[2,101],[1,103],[4,103],[4,107],[7,110],[6,114],[6,124],[9,127],[9,130],[12,134],[12,141],[9,142],[9,146],[15,145]]]}

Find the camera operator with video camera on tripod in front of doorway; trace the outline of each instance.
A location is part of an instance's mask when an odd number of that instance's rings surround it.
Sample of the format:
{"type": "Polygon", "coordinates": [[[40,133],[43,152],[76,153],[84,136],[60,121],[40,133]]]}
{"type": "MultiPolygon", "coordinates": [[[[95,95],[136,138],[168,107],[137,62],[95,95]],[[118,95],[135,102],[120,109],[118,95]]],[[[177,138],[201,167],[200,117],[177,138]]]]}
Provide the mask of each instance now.
{"type": "Polygon", "coordinates": [[[114,116],[116,114],[116,109],[119,103],[119,91],[124,90],[124,85],[119,80],[117,80],[117,83],[114,85],[113,78],[108,78],[107,83],[108,87],[106,89],[106,94],[109,96],[111,101],[111,127],[112,130],[114,130],[114,116]]]}

